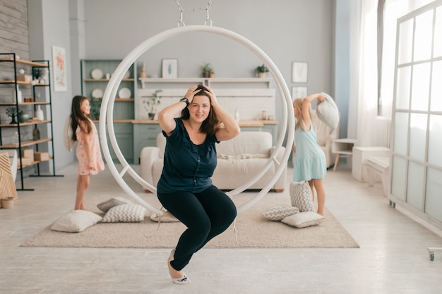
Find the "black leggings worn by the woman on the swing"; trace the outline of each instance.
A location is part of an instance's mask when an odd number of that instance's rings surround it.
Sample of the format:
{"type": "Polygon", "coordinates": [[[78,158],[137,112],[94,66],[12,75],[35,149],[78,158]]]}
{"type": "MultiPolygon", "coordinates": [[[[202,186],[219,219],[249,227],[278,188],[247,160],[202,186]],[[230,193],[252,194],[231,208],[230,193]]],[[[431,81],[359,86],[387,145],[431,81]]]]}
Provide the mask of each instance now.
{"type": "Polygon", "coordinates": [[[193,253],[227,230],[237,217],[237,207],[225,192],[215,186],[199,193],[158,193],[158,199],[165,209],[187,227],[179,238],[174,260],[170,263],[177,271],[184,269],[193,253]]]}

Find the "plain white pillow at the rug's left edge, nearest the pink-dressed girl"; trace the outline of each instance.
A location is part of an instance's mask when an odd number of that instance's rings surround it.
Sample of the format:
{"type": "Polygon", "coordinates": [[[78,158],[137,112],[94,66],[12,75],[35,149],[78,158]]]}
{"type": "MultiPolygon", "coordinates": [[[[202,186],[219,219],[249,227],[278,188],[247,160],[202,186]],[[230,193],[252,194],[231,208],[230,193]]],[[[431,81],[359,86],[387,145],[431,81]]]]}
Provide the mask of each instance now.
{"type": "Polygon", "coordinates": [[[51,230],[68,233],[78,233],[86,228],[95,225],[102,220],[102,217],[87,210],[73,210],[64,214],[55,221],[51,230]]]}

